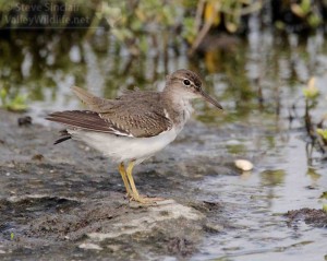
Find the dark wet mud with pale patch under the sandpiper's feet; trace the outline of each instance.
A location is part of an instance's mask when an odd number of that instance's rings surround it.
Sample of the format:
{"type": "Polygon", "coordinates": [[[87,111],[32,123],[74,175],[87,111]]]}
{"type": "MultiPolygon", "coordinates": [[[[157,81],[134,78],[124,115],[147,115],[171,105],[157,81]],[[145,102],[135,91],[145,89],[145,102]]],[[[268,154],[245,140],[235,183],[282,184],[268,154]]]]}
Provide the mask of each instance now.
{"type": "Polygon", "coordinates": [[[164,154],[140,166],[140,191],[174,199],[142,206],[125,199],[116,166],[97,152],[72,141],[53,146],[57,129],[20,124],[20,119],[1,111],[2,260],[184,259],[208,230],[223,227],[208,222],[219,204],[187,197],[185,176],[198,177],[178,175],[195,164],[171,169],[173,155],[164,154]]]}

